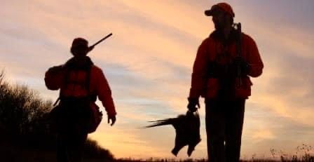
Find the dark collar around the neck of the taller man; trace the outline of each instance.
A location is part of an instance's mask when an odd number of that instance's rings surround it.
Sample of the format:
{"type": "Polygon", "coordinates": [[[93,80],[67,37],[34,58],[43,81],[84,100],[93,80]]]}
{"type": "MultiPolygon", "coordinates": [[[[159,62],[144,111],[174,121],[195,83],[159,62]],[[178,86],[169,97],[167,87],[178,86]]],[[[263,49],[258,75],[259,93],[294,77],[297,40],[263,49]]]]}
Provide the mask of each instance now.
{"type": "Polygon", "coordinates": [[[214,39],[215,41],[220,41],[224,45],[230,45],[231,43],[234,43],[237,40],[237,31],[235,29],[231,29],[231,32],[228,36],[228,39],[224,37],[224,33],[219,30],[214,30],[210,34],[210,38],[214,39]]]}

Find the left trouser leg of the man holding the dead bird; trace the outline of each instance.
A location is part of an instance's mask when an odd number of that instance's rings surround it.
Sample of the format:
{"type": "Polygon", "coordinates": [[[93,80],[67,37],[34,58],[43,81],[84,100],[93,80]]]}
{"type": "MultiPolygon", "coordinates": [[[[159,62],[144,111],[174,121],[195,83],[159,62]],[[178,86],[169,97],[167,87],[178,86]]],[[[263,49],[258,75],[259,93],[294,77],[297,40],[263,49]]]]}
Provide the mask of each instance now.
{"type": "Polygon", "coordinates": [[[225,117],[221,111],[221,102],[205,100],[205,111],[208,161],[224,162],[225,117]]]}

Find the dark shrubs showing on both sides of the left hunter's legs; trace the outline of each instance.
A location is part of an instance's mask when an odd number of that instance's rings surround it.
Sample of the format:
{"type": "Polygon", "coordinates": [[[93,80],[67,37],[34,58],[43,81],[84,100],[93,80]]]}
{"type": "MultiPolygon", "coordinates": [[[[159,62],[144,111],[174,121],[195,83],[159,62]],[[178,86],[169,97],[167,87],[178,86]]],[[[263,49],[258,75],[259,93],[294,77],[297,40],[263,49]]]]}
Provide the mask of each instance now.
{"type": "MultiPolygon", "coordinates": [[[[42,100],[38,93],[27,86],[10,85],[4,79],[4,71],[0,72],[1,154],[4,153],[1,150],[6,150],[6,156],[20,161],[23,159],[21,156],[29,150],[55,151],[57,135],[50,129],[48,121],[52,104],[50,100],[42,100]]],[[[88,139],[84,150],[88,158],[114,161],[111,152],[93,140],[88,139]]],[[[26,158],[29,157],[24,160],[26,158]]]]}

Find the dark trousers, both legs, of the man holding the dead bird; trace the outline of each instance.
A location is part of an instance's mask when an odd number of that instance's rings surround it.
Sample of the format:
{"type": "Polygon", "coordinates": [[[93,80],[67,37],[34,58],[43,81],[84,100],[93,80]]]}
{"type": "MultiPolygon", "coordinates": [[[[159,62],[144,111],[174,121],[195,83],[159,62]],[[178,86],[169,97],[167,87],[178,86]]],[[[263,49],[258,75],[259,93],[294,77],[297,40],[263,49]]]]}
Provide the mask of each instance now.
{"type": "Polygon", "coordinates": [[[205,100],[207,154],[210,162],[240,161],[245,99],[205,100]]]}

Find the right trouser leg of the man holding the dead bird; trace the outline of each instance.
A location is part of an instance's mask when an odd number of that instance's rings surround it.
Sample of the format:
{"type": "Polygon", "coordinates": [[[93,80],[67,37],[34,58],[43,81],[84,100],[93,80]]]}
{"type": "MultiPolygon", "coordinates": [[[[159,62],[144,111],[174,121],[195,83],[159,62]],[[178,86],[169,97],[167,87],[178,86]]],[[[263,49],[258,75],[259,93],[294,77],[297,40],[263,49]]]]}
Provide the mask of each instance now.
{"type": "Polygon", "coordinates": [[[226,161],[240,161],[245,100],[230,102],[226,114],[226,161]]]}

